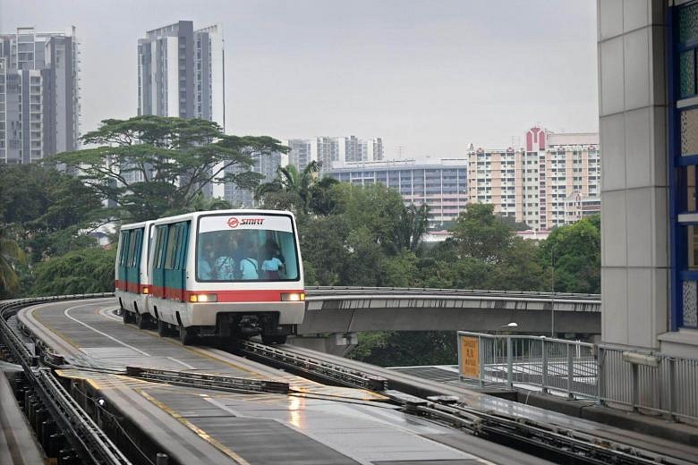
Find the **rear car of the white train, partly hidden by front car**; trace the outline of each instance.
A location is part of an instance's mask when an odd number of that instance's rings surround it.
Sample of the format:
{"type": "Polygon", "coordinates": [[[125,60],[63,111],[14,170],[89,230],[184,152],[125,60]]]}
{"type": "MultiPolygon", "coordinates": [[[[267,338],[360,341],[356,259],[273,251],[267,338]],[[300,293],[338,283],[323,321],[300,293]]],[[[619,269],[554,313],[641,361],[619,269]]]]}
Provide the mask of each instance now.
{"type": "Polygon", "coordinates": [[[124,224],[119,231],[116,251],[115,296],[119,300],[123,322],[135,322],[140,328],[152,321],[149,313],[149,252],[154,221],[124,224]]]}

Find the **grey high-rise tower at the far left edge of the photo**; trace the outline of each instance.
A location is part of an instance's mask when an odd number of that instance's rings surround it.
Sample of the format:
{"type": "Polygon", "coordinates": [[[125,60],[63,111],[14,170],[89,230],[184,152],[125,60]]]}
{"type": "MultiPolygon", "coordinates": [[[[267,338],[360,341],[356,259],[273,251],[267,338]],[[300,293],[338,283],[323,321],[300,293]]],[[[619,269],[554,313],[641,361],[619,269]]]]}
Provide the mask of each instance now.
{"type": "Polygon", "coordinates": [[[74,28],[0,34],[0,163],[78,148],[78,63],[74,28]]]}

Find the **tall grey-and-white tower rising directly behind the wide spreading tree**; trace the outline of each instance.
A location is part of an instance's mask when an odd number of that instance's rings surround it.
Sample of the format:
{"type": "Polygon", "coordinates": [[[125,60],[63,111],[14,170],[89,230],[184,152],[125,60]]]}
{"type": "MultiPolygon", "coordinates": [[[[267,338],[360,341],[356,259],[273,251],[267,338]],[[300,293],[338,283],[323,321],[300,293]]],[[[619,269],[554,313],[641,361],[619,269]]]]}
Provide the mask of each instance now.
{"type": "Polygon", "coordinates": [[[192,21],[149,30],[138,41],[138,114],[214,121],[225,130],[225,74],[220,25],[192,21]]]}

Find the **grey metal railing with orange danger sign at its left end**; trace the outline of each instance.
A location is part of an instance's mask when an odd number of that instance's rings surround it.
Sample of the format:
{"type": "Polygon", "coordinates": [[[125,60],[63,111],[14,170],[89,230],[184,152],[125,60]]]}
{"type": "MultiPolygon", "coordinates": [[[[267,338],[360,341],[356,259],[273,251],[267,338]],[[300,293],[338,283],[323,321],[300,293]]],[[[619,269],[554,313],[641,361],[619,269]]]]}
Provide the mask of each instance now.
{"type": "Polygon", "coordinates": [[[698,359],[545,336],[458,332],[461,379],[698,421],[698,359]]]}

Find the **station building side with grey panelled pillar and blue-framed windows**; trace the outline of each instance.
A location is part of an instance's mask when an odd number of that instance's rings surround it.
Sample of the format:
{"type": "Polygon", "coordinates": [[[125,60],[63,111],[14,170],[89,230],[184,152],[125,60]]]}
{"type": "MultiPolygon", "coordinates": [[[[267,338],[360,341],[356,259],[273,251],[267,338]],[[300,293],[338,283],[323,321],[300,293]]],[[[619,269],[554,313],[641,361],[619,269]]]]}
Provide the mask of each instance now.
{"type": "Polygon", "coordinates": [[[698,2],[598,10],[601,337],[698,359],[698,2]]]}

